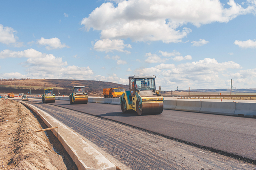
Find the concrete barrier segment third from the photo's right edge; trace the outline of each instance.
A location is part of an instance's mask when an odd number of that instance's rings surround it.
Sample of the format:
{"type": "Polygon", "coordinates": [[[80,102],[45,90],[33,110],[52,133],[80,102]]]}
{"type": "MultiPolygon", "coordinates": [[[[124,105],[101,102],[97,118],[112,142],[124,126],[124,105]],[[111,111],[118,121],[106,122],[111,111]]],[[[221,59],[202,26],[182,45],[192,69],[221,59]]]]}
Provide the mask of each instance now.
{"type": "Polygon", "coordinates": [[[199,112],[202,107],[201,101],[177,100],[175,110],[199,112]]]}

